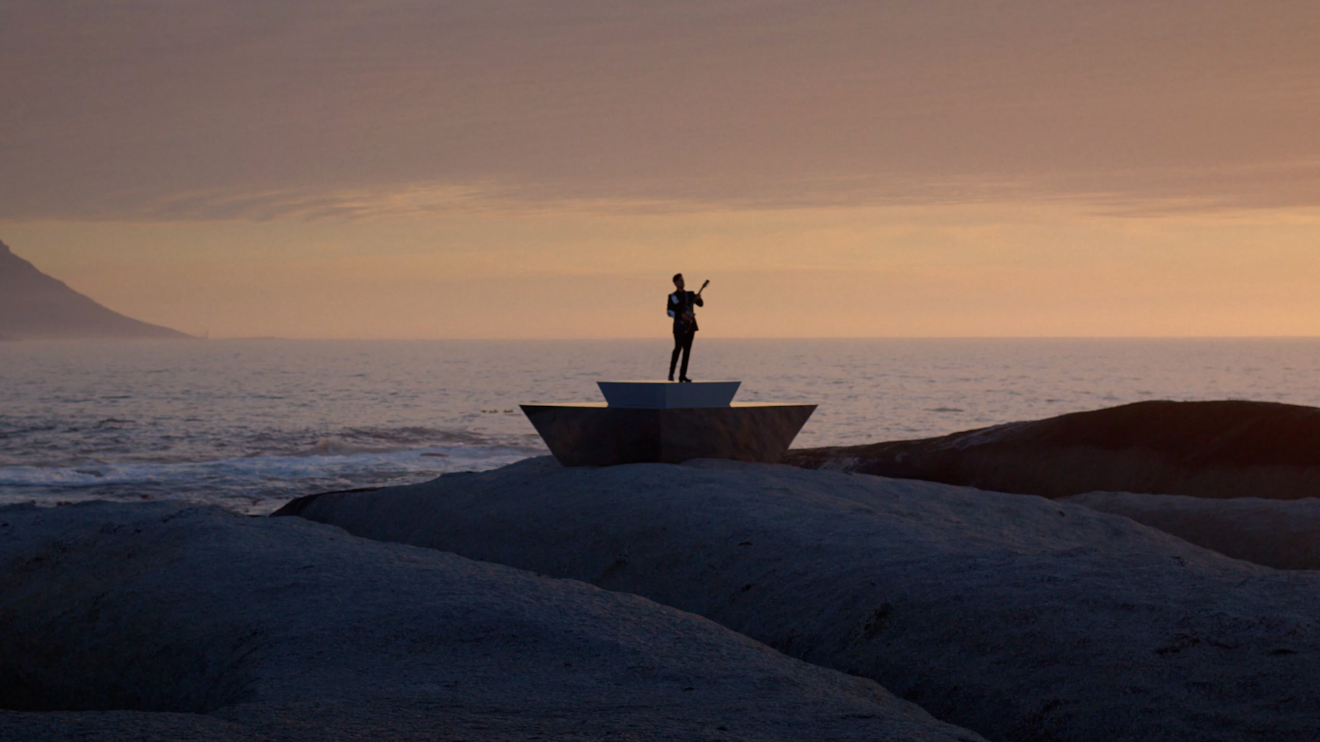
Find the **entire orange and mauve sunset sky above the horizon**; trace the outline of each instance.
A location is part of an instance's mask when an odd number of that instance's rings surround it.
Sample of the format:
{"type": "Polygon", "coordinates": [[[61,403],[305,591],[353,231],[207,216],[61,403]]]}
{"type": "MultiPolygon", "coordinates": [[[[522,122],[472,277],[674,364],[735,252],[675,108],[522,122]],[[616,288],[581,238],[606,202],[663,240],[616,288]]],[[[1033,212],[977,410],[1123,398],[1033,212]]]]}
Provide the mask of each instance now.
{"type": "Polygon", "coordinates": [[[1320,335],[1315,0],[0,0],[0,239],[210,337],[1320,335]]]}

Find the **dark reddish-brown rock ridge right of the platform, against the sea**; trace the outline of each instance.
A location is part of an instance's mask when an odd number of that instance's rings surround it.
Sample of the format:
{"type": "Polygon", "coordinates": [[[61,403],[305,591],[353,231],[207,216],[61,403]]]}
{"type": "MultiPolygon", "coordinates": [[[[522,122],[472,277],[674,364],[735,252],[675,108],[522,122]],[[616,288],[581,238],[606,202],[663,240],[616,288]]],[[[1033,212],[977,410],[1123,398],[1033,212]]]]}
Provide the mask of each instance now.
{"type": "Polygon", "coordinates": [[[1093,491],[1320,496],[1320,409],[1140,401],[919,441],[791,450],[784,463],[1060,498],[1093,491]]]}

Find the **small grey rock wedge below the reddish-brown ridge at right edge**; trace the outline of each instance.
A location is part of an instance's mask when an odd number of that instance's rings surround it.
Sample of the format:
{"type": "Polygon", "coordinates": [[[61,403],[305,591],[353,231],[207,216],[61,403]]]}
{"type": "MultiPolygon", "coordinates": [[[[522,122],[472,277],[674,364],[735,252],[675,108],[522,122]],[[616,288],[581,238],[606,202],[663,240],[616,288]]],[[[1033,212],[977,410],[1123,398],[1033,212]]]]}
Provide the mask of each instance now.
{"type": "Polygon", "coordinates": [[[1086,492],[1063,498],[1172,533],[1221,555],[1275,569],[1320,569],[1320,499],[1206,499],[1086,492]]]}

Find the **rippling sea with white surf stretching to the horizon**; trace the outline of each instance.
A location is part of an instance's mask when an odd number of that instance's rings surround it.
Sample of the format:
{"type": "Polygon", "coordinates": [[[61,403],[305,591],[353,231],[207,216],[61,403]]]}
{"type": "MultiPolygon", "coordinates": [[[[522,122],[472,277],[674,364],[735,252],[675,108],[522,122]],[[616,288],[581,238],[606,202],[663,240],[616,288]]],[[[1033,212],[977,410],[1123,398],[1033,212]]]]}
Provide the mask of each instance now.
{"type": "MultiPolygon", "coordinates": [[[[317,491],[546,453],[519,403],[657,379],[656,341],[0,343],[0,503],[170,499],[264,514],[317,491]]],[[[795,448],[1152,400],[1320,405],[1320,339],[705,339],[689,375],[820,405],[795,448]]]]}

